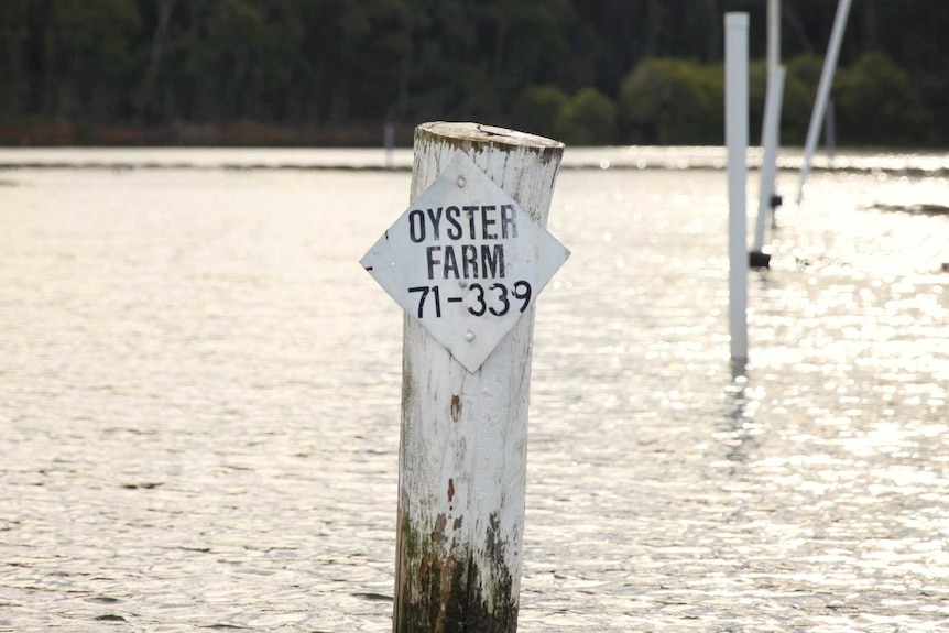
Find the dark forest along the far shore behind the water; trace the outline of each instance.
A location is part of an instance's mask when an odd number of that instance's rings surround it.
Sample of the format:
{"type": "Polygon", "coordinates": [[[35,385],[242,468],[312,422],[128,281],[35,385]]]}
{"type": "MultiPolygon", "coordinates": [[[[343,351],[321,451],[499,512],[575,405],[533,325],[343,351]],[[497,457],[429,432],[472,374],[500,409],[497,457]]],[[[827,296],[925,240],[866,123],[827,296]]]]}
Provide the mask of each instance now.
{"type": "MultiPolygon", "coordinates": [[[[720,144],[723,14],[766,0],[0,0],[0,144],[379,145],[426,120],[574,144],[720,144]]],[[[782,1],[803,144],[836,0],[782,1]]],[[[949,145],[949,2],[854,0],[838,144],[949,145]]],[[[755,141],[755,139],[752,139],[755,141]]]]}

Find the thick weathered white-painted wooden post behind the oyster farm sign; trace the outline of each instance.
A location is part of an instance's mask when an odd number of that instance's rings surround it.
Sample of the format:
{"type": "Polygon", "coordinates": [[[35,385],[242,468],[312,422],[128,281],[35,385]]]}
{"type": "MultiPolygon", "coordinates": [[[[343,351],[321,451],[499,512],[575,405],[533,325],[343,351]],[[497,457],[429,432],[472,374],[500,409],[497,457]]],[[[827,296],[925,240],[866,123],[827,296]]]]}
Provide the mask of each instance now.
{"type": "MultiPolygon", "coordinates": [[[[415,131],[413,200],[459,149],[546,225],[561,143],[476,123],[424,123],[415,131]]],[[[472,373],[405,315],[396,633],[516,630],[533,330],[531,304],[472,373]]]]}

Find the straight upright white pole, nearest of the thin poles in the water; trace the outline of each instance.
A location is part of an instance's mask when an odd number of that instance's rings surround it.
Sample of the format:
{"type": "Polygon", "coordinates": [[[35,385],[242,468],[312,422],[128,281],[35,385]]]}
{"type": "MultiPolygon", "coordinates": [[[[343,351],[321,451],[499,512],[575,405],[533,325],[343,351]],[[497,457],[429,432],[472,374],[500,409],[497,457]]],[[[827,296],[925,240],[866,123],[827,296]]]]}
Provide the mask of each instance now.
{"type": "Polygon", "coordinates": [[[731,358],[748,358],[748,13],[726,13],[726,144],[731,358]]]}

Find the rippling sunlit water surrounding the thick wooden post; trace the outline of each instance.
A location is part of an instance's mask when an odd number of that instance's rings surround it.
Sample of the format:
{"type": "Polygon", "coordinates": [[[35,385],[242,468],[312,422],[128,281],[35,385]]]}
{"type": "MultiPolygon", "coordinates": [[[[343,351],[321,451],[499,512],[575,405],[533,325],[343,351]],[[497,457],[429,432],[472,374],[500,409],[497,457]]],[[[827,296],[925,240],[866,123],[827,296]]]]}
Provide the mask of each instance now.
{"type": "MultiPolygon", "coordinates": [[[[812,174],[737,368],[724,173],[589,152],[550,214],[520,631],[949,626],[949,216],[881,210],[949,181],[812,174]]],[[[408,174],[182,156],[0,172],[0,631],[388,631],[401,316],[357,261],[408,174]]]]}

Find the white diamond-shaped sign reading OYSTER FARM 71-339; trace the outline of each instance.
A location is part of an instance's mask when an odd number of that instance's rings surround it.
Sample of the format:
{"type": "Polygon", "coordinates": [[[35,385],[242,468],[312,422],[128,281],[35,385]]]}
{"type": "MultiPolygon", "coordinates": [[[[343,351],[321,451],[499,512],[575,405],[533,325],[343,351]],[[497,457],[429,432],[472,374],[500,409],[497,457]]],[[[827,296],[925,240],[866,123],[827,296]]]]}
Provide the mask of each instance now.
{"type": "Polygon", "coordinates": [[[457,150],[360,263],[473,373],[569,255],[457,150]]]}

